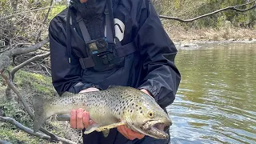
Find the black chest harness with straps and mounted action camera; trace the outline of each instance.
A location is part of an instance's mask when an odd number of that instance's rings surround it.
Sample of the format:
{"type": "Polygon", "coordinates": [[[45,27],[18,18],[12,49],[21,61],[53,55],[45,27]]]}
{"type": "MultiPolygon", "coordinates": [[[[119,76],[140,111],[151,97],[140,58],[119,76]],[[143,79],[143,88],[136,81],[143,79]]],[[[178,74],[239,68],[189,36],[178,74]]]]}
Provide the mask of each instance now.
{"type": "MultiPolygon", "coordinates": [[[[137,49],[134,42],[130,42],[124,46],[116,42],[114,31],[114,16],[111,0],[106,0],[106,8],[104,11],[106,20],[106,38],[91,39],[86,28],[86,24],[78,13],[76,21],[81,30],[84,42],[86,42],[86,58],[79,58],[82,69],[93,69],[96,71],[111,70],[115,67],[124,65],[124,58],[128,54],[134,53],[137,49]]],[[[67,23],[70,23],[70,16],[67,17],[67,23]]],[[[67,26],[68,32],[70,26],[67,26]]],[[[70,34],[67,33],[67,49],[71,54],[70,34]]],[[[69,58],[70,62],[70,58],[69,58]]]]}

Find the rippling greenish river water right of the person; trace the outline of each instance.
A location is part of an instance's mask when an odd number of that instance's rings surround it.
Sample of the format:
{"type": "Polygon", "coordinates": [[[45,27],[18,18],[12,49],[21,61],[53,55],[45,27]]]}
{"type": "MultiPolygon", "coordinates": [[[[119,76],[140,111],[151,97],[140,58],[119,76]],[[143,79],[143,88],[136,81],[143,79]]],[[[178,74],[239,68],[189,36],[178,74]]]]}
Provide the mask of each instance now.
{"type": "Polygon", "coordinates": [[[256,143],[256,44],[178,49],[171,143],[256,143]]]}

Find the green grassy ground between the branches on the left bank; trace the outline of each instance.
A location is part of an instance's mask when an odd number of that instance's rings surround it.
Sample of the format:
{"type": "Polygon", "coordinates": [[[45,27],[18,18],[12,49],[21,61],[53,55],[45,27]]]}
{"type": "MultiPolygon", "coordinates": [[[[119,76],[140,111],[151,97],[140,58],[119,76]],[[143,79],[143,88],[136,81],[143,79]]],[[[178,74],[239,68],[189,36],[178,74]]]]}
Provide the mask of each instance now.
{"type": "MultiPolygon", "coordinates": [[[[15,74],[14,85],[29,104],[31,103],[30,100],[34,94],[46,95],[48,97],[56,94],[51,84],[50,77],[26,72],[24,70],[19,70],[17,74],[15,74]]],[[[0,115],[3,117],[14,118],[16,121],[22,123],[22,125],[32,129],[33,121],[30,119],[29,115],[22,110],[22,104],[16,101],[16,95],[14,94],[15,100],[7,102],[5,98],[5,90],[5,82],[0,78],[0,115]]],[[[43,126],[46,130],[50,130],[60,137],[69,138],[72,136],[68,132],[68,128],[65,128],[62,122],[48,120],[43,126]]],[[[30,136],[22,130],[18,130],[16,126],[5,122],[0,122],[0,139],[12,143],[49,143],[41,138],[30,136]]]]}

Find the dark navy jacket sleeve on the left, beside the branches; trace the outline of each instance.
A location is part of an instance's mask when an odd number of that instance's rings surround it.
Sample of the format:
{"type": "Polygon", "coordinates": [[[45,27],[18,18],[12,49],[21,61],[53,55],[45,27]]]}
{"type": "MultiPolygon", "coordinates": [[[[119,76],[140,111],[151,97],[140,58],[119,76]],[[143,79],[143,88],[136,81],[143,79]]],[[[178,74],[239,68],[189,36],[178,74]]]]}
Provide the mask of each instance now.
{"type": "Polygon", "coordinates": [[[71,54],[71,63],[68,62],[66,32],[62,25],[54,18],[49,26],[52,82],[59,95],[65,91],[77,94],[79,91],[94,85],[82,83],[81,66],[74,54],[71,54]]]}

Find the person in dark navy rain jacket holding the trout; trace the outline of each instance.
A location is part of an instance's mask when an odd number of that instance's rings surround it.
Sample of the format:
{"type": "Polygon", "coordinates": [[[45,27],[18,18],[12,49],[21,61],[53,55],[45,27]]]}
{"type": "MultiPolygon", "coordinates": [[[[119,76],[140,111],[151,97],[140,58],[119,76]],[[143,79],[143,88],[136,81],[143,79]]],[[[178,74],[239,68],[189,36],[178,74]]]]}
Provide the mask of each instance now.
{"type": "MultiPolygon", "coordinates": [[[[70,6],[50,22],[49,38],[52,81],[58,94],[132,86],[150,94],[164,110],[174,102],[181,79],[174,65],[177,50],[149,0],[71,0],[70,6]],[[100,50],[87,43],[102,38],[118,52],[103,48],[102,57],[97,61],[94,53],[100,50]],[[112,61],[114,58],[117,61],[112,61]],[[98,62],[106,65],[104,69],[98,62]]],[[[72,110],[71,127],[84,128],[88,122],[85,124],[81,119],[86,116],[89,114],[83,110],[72,110]],[[78,126],[78,119],[83,122],[82,127],[78,126]]],[[[162,144],[170,141],[125,133],[112,129],[104,138],[93,132],[84,134],[83,140],[86,144],[162,144]]]]}

